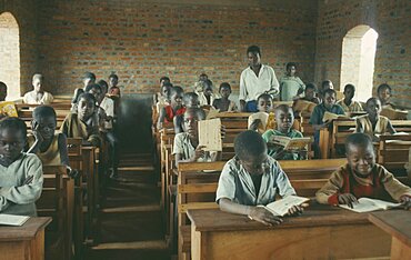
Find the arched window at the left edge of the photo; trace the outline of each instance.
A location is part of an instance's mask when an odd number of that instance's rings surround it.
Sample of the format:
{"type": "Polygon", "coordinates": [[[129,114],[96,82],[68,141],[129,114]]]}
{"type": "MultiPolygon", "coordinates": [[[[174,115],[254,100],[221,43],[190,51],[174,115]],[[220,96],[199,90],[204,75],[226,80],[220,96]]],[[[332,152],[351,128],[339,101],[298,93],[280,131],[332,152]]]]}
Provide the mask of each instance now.
{"type": "Polygon", "coordinates": [[[0,81],[8,87],[7,99],[20,97],[20,37],[13,14],[0,14],[0,81]]]}

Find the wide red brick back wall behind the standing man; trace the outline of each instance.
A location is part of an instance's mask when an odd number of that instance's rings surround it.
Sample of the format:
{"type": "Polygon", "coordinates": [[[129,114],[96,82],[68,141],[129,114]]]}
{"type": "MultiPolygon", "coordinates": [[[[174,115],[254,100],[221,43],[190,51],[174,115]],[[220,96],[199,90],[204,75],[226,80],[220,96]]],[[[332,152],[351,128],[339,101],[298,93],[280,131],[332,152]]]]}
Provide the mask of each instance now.
{"type": "Polygon", "coordinates": [[[294,61],[312,81],[317,0],[249,2],[38,1],[39,66],[60,94],[81,86],[84,71],[116,71],[128,93],[158,91],[164,74],[188,88],[201,72],[238,88],[247,47],[259,44],[278,77],[294,61]]]}

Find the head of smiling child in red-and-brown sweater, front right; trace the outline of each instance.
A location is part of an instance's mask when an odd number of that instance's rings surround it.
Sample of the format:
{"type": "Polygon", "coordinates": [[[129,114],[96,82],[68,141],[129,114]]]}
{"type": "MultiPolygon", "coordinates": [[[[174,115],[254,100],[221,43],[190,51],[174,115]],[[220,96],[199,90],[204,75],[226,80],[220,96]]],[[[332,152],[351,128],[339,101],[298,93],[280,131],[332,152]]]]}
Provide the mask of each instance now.
{"type": "Polygon", "coordinates": [[[367,177],[375,164],[375,153],[371,138],[362,132],[352,133],[345,139],[348,163],[353,172],[367,177]]]}

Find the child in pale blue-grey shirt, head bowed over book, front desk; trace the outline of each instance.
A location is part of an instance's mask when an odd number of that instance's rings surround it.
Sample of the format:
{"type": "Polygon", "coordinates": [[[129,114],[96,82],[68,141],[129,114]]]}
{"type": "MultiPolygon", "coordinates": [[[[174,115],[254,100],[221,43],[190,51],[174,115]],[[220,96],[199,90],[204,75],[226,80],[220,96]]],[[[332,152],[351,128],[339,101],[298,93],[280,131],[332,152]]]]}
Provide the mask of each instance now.
{"type": "MultiPolygon", "coordinates": [[[[240,133],[234,141],[235,157],[229,160],[220,176],[215,201],[222,211],[245,214],[264,224],[279,224],[280,217],[259,204],[294,196],[295,190],[278,161],[267,154],[267,144],[254,131],[240,133]]],[[[301,213],[301,207],[293,207],[289,214],[301,213]]]]}

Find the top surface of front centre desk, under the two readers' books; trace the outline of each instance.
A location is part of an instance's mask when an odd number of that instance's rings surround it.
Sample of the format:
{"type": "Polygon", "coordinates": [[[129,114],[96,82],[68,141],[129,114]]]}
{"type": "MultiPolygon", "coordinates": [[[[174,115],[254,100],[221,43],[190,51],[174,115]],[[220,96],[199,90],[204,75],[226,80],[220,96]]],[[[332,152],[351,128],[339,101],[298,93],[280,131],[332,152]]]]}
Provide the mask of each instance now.
{"type": "Polygon", "coordinates": [[[189,210],[188,216],[197,231],[263,230],[370,223],[367,213],[357,213],[318,203],[312,203],[301,216],[283,218],[283,222],[274,227],[267,227],[250,220],[247,216],[231,214],[219,209],[189,210]]]}

